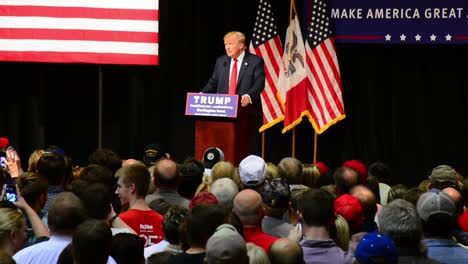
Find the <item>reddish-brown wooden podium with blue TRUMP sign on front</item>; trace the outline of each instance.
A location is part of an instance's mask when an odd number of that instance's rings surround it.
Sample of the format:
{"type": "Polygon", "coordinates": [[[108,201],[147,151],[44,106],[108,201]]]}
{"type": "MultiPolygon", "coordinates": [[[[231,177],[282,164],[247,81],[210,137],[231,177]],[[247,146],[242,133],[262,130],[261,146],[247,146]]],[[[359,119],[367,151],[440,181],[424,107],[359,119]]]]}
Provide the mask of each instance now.
{"type": "MultiPolygon", "coordinates": [[[[193,95],[187,94],[187,108],[190,107],[189,96],[193,95]]],[[[186,115],[193,115],[195,118],[195,158],[203,160],[206,149],[218,147],[224,152],[224,160],[238,166],[250,152],[249,116],[252,112],[251,106],[238,106],[237,96],[232,95],[198,94],[198,96],[236,98],[231,105],[236,108],[237,115],[236,117],[224,117],[210,113],[197,115],[193,114],[193,111],[188,113],[186,108],[186,115]]]]}

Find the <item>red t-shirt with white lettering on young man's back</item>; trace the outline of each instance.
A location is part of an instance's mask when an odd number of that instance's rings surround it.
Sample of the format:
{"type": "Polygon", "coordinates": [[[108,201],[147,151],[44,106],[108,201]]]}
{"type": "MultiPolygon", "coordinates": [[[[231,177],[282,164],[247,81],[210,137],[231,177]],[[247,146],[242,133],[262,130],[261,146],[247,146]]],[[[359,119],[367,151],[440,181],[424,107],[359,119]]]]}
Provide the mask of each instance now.
{"type": "Polygon", "coordinates": [[[145,242],[145,247],[159,243],[164,238],[162,215],[153,210],[130,209],[119,215],[145,242]]]}

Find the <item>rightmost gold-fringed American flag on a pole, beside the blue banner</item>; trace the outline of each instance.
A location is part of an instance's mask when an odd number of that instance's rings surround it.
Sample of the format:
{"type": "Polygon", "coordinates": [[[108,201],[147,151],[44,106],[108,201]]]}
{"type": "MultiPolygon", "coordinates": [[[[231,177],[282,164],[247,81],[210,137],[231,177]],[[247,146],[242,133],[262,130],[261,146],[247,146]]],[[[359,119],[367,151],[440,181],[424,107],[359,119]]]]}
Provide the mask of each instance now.
{"type": "Polygon", "coordinates": [[[340,69],[332,36],[330,10],[325,0],[313,1],[306,36],[308,100],[317,134],[345,118],[340,69]]]}

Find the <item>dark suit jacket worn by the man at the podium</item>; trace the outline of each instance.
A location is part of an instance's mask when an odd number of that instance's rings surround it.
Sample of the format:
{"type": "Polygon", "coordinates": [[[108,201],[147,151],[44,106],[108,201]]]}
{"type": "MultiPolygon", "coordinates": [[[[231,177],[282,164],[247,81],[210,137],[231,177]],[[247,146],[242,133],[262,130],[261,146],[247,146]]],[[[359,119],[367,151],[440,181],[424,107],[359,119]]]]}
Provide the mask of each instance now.
{"type": "MultiPolygon", "coordinates": [[[[203,93],[229,93],[229,69],[231,58],[223,55],[216,60],[213,74],[208,83],[203,87],[203,93]]],[[[248,94],[253,104],[259,104],[260,93],[265,88],[265,69],[263,59],[245,52],[242,65],[240,65],[237,77],[237,94],[242,96],[248,94]]]]}

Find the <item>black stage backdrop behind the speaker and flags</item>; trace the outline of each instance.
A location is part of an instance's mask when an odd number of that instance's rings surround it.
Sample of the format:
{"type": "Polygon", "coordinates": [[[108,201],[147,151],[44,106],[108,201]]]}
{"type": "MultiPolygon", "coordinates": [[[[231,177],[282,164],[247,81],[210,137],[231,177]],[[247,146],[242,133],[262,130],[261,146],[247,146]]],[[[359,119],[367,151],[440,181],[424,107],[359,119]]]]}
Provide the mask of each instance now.
{"type": "MultiPolygon", "coordinates": [[[[257,1],[229,3],[161,0],[160,66],[102,66],[104,147],[140,158],[145,144],[159,141],[176,160],[193,155],[185,94],[208,80],[224,52],[224,33],[252,34],[257,1]]],[[[273,4],[284,32],[289,4],[273,4]]],[[[395,181],[407,184],[442,163],[467,171],[466,46],[339,45],[337,52],[347,118],[319,136],[319,160],[333,168],[348,159],[384,161],[395,181]]],[[[55,144],[85,165],[97,147],[98,66],[3,62],[0,68],[0,136],[10,138],[24,163],[32,150],[55,144]]],[[[277,125],[266,132],[267,161],[291,154],[291,135],[280,131],[277,125]]],[[[303,162],[312,161],[313,137],[304,120],[296,141],[303,162]]]]}

